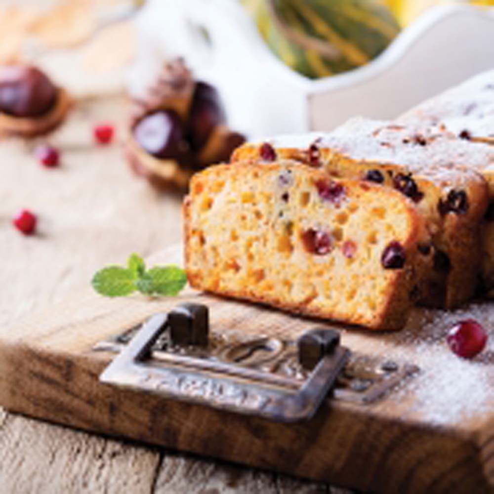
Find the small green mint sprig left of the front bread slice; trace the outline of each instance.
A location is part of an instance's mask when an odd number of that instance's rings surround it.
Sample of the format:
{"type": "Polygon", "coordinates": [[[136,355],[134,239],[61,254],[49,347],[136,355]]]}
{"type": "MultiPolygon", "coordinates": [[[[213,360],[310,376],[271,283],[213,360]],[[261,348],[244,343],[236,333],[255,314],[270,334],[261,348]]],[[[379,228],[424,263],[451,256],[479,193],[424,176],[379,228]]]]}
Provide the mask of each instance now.
{"type": "Polygon", "coordinates": [[[127,266],[107,266],[97,271],[92,287],[106,297],[124,297],[134,291],[145,295],[178,295],[185,287],[185,271],[178,266],[155,266],[146,270],[146,264],[137,254],[131,254],[127,266]]]}

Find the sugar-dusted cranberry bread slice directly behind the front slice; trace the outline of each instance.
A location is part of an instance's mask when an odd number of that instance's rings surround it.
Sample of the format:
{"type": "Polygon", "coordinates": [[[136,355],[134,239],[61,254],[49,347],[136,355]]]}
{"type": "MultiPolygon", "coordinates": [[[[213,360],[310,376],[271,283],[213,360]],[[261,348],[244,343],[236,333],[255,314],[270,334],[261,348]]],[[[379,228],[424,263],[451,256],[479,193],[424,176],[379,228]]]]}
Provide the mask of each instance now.
{"type": "Polygon", "coordinates": [[[434,129],[353,119],[326,135],[279,138],[247,144],[233,161],[294,159],[334,177],[390,186],[409,197],[425,220],[431,244],[420,242],[430,266],[419,283],[419,302],[453,308],[470,299],[480,271],[480,224],[488,204],[484,178],[468,169],[492,156],[434,129]],[[298,141],[298,142],[297,142],[298,141]]]}

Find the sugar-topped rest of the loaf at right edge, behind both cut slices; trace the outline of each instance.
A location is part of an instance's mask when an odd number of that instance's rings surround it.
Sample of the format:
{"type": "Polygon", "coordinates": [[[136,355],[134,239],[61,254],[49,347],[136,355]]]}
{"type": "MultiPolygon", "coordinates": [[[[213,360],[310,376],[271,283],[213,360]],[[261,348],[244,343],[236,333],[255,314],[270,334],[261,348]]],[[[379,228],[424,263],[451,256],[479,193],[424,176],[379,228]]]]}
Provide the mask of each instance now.
{"type": "MultiPolygon", "coordinates": [[[[444,129],[465,142],[494,146],[494,70],[483,72],[421,103],[400,120],[444,129]]],[[[477,147],[473,146],[474,149],[477,147]]],[[[494,297],[494,165],[492,159],[487,162],[469,160],[468,164],[481,172],[489,184],[490,205],[481,230],[481,271],[482,286],[494,297]]]]}

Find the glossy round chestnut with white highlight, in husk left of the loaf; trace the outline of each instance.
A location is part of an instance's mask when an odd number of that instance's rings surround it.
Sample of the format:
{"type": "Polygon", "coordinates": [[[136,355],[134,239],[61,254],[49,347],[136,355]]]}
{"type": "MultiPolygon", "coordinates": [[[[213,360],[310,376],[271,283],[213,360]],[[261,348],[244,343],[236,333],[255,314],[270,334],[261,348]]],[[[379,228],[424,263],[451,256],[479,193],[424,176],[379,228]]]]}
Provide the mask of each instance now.
{"type": "Polygon", "coordinates": [[[137,142],[157,158],[175,159],[184,151],[182,125],[178,115],[160,110],[140,120],[134,127],[137,142]]]}

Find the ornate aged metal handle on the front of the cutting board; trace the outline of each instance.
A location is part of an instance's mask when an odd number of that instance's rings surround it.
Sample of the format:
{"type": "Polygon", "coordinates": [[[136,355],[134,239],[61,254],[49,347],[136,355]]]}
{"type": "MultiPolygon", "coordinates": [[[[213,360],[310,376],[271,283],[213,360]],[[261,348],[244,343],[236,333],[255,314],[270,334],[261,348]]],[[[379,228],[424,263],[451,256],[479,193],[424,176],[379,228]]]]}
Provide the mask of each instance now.
{"type": "MultiPolygon", "coordinates": [[[[262,365],[258,368],[263,363],[262,356],[253,358],[254,353],[266,348],[277,357],[282,353],[276,345],[269,348],[269,338],[222,348],[212,340],[209,343],[208,329],[204,305],[185,304],[168,314],[156,314],[142,325],[100,380],[232,412],[293,422],[314,415],[350,356],[350,351],[340,346],[337,331],[315,329],[305,333],[298,340],[298,360],[310,374],[300,382],[266,371],[262,365]],[[150,359],[151,349],[164,335],[166,350],[160,352],[158,366],[150,359]],[[236,363],[239,361],[244,365],[236,363]]],[[[287,345],[276,341],[279,346],[287,345]]],[[[289,355],[285,352],[281,360],[289,355]]]]}

